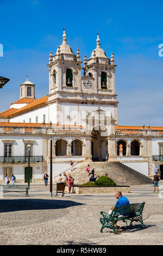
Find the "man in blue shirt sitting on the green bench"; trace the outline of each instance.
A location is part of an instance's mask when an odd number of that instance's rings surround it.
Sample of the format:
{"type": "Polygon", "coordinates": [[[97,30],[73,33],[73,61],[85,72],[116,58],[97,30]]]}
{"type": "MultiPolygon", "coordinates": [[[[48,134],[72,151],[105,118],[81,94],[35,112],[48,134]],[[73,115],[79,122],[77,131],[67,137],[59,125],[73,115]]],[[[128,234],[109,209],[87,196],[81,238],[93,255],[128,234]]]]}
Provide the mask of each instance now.
{"type": "MultiPolygon", "coordinates": [[[[118,199],[117,202],[116,202],[116,205],[117,207],[120,207],[120,206],[123,206],[123,205],[127,205],[127,204],[130,204],[129,203],[129,200],[127,199],[127,197],[123,197],[122,196],[122,192],[121,191],[116,191],[115,192],[115,197],[118,199]]],[[[111,215],[112,213],[112,210],[114,210],[114,207],[115,206],[110,206],[110,211],[108,212],[109,215],[111,215]]],[[[128,217],[128,214],[127,212],[120,212],[121,215],[118,215],[118,217],[128,217]]],[[[117,223],[115,221],[114,223],[114,226],[116,229],[120,228],[119,226],[117,226],[117,223]]]]}

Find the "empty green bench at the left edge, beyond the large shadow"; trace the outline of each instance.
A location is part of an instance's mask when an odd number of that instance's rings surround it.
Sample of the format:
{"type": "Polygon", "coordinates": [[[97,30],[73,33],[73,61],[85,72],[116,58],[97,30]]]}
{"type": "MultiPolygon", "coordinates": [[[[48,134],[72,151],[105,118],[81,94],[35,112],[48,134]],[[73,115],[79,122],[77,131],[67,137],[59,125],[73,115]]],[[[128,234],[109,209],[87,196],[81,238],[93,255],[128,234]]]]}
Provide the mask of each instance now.
{"type": "Polygon", "coordinates": [[[1,193],[7,192],[18,192],[18,193],[26,193],[26,197],[28,197],[28,186],[27,185],[1,185],[1,193]]]}

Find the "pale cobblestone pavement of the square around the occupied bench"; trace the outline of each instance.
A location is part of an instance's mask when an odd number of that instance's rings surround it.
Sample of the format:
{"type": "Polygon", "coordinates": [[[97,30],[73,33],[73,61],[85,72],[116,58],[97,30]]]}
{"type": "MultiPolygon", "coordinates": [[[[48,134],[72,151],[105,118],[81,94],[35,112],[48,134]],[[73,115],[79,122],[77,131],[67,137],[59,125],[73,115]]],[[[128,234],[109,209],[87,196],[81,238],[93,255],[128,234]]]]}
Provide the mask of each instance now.
{"type": "Polygon", "coordinates": [[[114,194],[50,197],[49,186],[39,185],[30,187],[29,198],[7,193],[0,199],[0,245],[163,245],[163,198],[150,185],[130,191],[123,194],[130,203],[146,202],[145,228],[118,222],[117,235],[106,228],[100,233],[99,222],[100,212],[115,205],[114,194]]]}

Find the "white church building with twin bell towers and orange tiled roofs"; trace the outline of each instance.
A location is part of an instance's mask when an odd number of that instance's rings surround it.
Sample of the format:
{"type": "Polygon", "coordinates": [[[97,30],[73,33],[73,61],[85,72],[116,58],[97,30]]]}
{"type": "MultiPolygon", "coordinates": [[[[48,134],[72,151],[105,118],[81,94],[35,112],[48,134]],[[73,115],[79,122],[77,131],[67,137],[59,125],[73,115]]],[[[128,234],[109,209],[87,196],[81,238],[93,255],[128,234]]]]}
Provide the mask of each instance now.
{"type": "Polygon", "coordinates": [[[49,54],[49,92],[35,99],[35,84],[20,86],[20,99],[0,113],[0,180],[14,173],[27,181],[42,180],[49,170],[49,143],[53,141],[55,173],[81,161],[120,161],[152,176],[163,178],[163,127],[118,125],[115,59],[106,56],[97,36],[95,50],[84,58],[75,55],[64,31],[57,52],[49,54]],[[81,75],[83,69],[83,76],[81,75]]]}

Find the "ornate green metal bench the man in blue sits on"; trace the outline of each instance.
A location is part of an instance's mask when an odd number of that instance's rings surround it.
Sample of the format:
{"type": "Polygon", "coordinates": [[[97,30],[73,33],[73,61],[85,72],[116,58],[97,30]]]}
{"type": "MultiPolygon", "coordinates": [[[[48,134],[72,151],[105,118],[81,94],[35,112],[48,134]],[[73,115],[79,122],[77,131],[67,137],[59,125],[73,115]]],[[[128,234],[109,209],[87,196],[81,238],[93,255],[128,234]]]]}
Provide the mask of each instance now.
{"type": "Polygon", "coordinates": [[[115,206],[111,215],[107,214],[104,211],[101,211],[103,217],[100,218],[100,222],[102,224],[101,233],[104,228],[111,228],[116,234],[116,229],[114,226],[115,221],[125,221],[130,220],[130,225],[132,225],[133,221],[139,221],[142,224],[142,227],[145,227],[142,220],[142,211],[145,206],[145,202],[136,203],[136,204],[128,204],[120,207],[115,206]],[[124,216],[122,216],[124,215],[124,216]],[[125,216],[126,215],[126,216],[125,216]]]}

